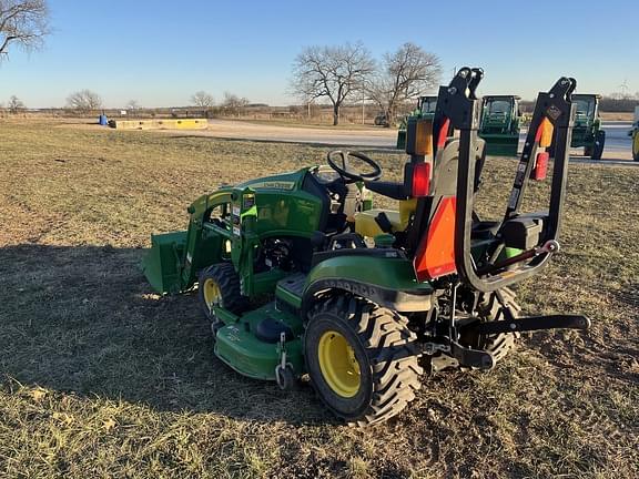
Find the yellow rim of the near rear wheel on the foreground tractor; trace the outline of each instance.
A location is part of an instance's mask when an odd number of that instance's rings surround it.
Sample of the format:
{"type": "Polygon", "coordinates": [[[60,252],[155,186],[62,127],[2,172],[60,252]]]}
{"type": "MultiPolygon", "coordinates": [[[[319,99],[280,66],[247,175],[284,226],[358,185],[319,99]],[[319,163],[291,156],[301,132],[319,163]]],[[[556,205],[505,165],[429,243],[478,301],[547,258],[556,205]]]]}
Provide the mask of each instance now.
{"type": "Polygon", "coordinates": [[[346,338],[328,330],[320,338],[317,348],[320,369],[326,384],[342,397],[353,397],[359,390],[359,363],[346,338]]]}

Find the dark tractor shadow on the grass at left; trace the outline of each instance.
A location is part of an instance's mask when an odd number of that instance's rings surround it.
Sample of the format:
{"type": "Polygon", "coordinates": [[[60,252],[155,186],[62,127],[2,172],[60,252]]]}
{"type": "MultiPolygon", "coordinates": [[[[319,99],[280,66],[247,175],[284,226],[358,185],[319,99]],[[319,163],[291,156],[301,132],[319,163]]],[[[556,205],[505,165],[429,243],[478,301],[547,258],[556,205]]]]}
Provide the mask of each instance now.
{"type": "Polygon", "coordinates": [[[283,393],[213,355],[193,294],[160,297],[144,251],[111,246],[0,248],[0,374],[161,411],[291,424],[332,422],[308,386],[283,393]]]}

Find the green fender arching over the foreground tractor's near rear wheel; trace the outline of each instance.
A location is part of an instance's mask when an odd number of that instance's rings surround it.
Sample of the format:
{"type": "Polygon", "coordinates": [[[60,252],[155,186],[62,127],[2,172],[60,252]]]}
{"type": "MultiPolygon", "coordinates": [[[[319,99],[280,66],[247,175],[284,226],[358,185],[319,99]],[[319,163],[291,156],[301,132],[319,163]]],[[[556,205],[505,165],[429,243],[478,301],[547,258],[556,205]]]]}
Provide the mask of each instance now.
{"type": "Polygon", "coordinates": [[[339,291],[366,298],[399,313],[432,307],[433,286],[419,283],[406,258],[341,255],[324,259],[308,274],[302,296],[302,317],[320,293],[339,291]]]}

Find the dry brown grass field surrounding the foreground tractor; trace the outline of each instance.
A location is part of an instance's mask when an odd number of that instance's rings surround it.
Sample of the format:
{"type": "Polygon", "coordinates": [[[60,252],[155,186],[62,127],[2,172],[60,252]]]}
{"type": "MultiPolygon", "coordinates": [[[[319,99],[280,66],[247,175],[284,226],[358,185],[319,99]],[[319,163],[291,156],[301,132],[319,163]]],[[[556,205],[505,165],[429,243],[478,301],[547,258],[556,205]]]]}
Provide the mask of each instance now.
{"type": "MultiPolygon", "coordinates": [[[[233,373],[193,294],[150,291],[149,235],[184,228],[192,200],[325,153],[0,122],[0,477],[639,477],[639,169],[571,166],[562,253],[517,287],[529,313],[588,314],[588,334],[425,378],[371,429],[233,373]]],[[[485,201],[504,204],[514,166],[488,165],[485,201]]]]}

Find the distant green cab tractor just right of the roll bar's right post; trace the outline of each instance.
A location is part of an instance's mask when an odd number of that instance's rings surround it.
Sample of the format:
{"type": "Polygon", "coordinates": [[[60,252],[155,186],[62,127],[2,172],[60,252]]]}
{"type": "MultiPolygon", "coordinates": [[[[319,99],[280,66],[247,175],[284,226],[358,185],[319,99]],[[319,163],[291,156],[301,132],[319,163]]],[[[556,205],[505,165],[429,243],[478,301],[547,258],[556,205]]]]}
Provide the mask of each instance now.
{"type": "Polygon", "coordinates": [[[592,160],[601,160],[606,132],[601,130],[599,118],[599,94],[574,94],[572,102],[576,104],[577,114],[572,128],[571,147],[584,147],[584,156],[592,160]]]}

